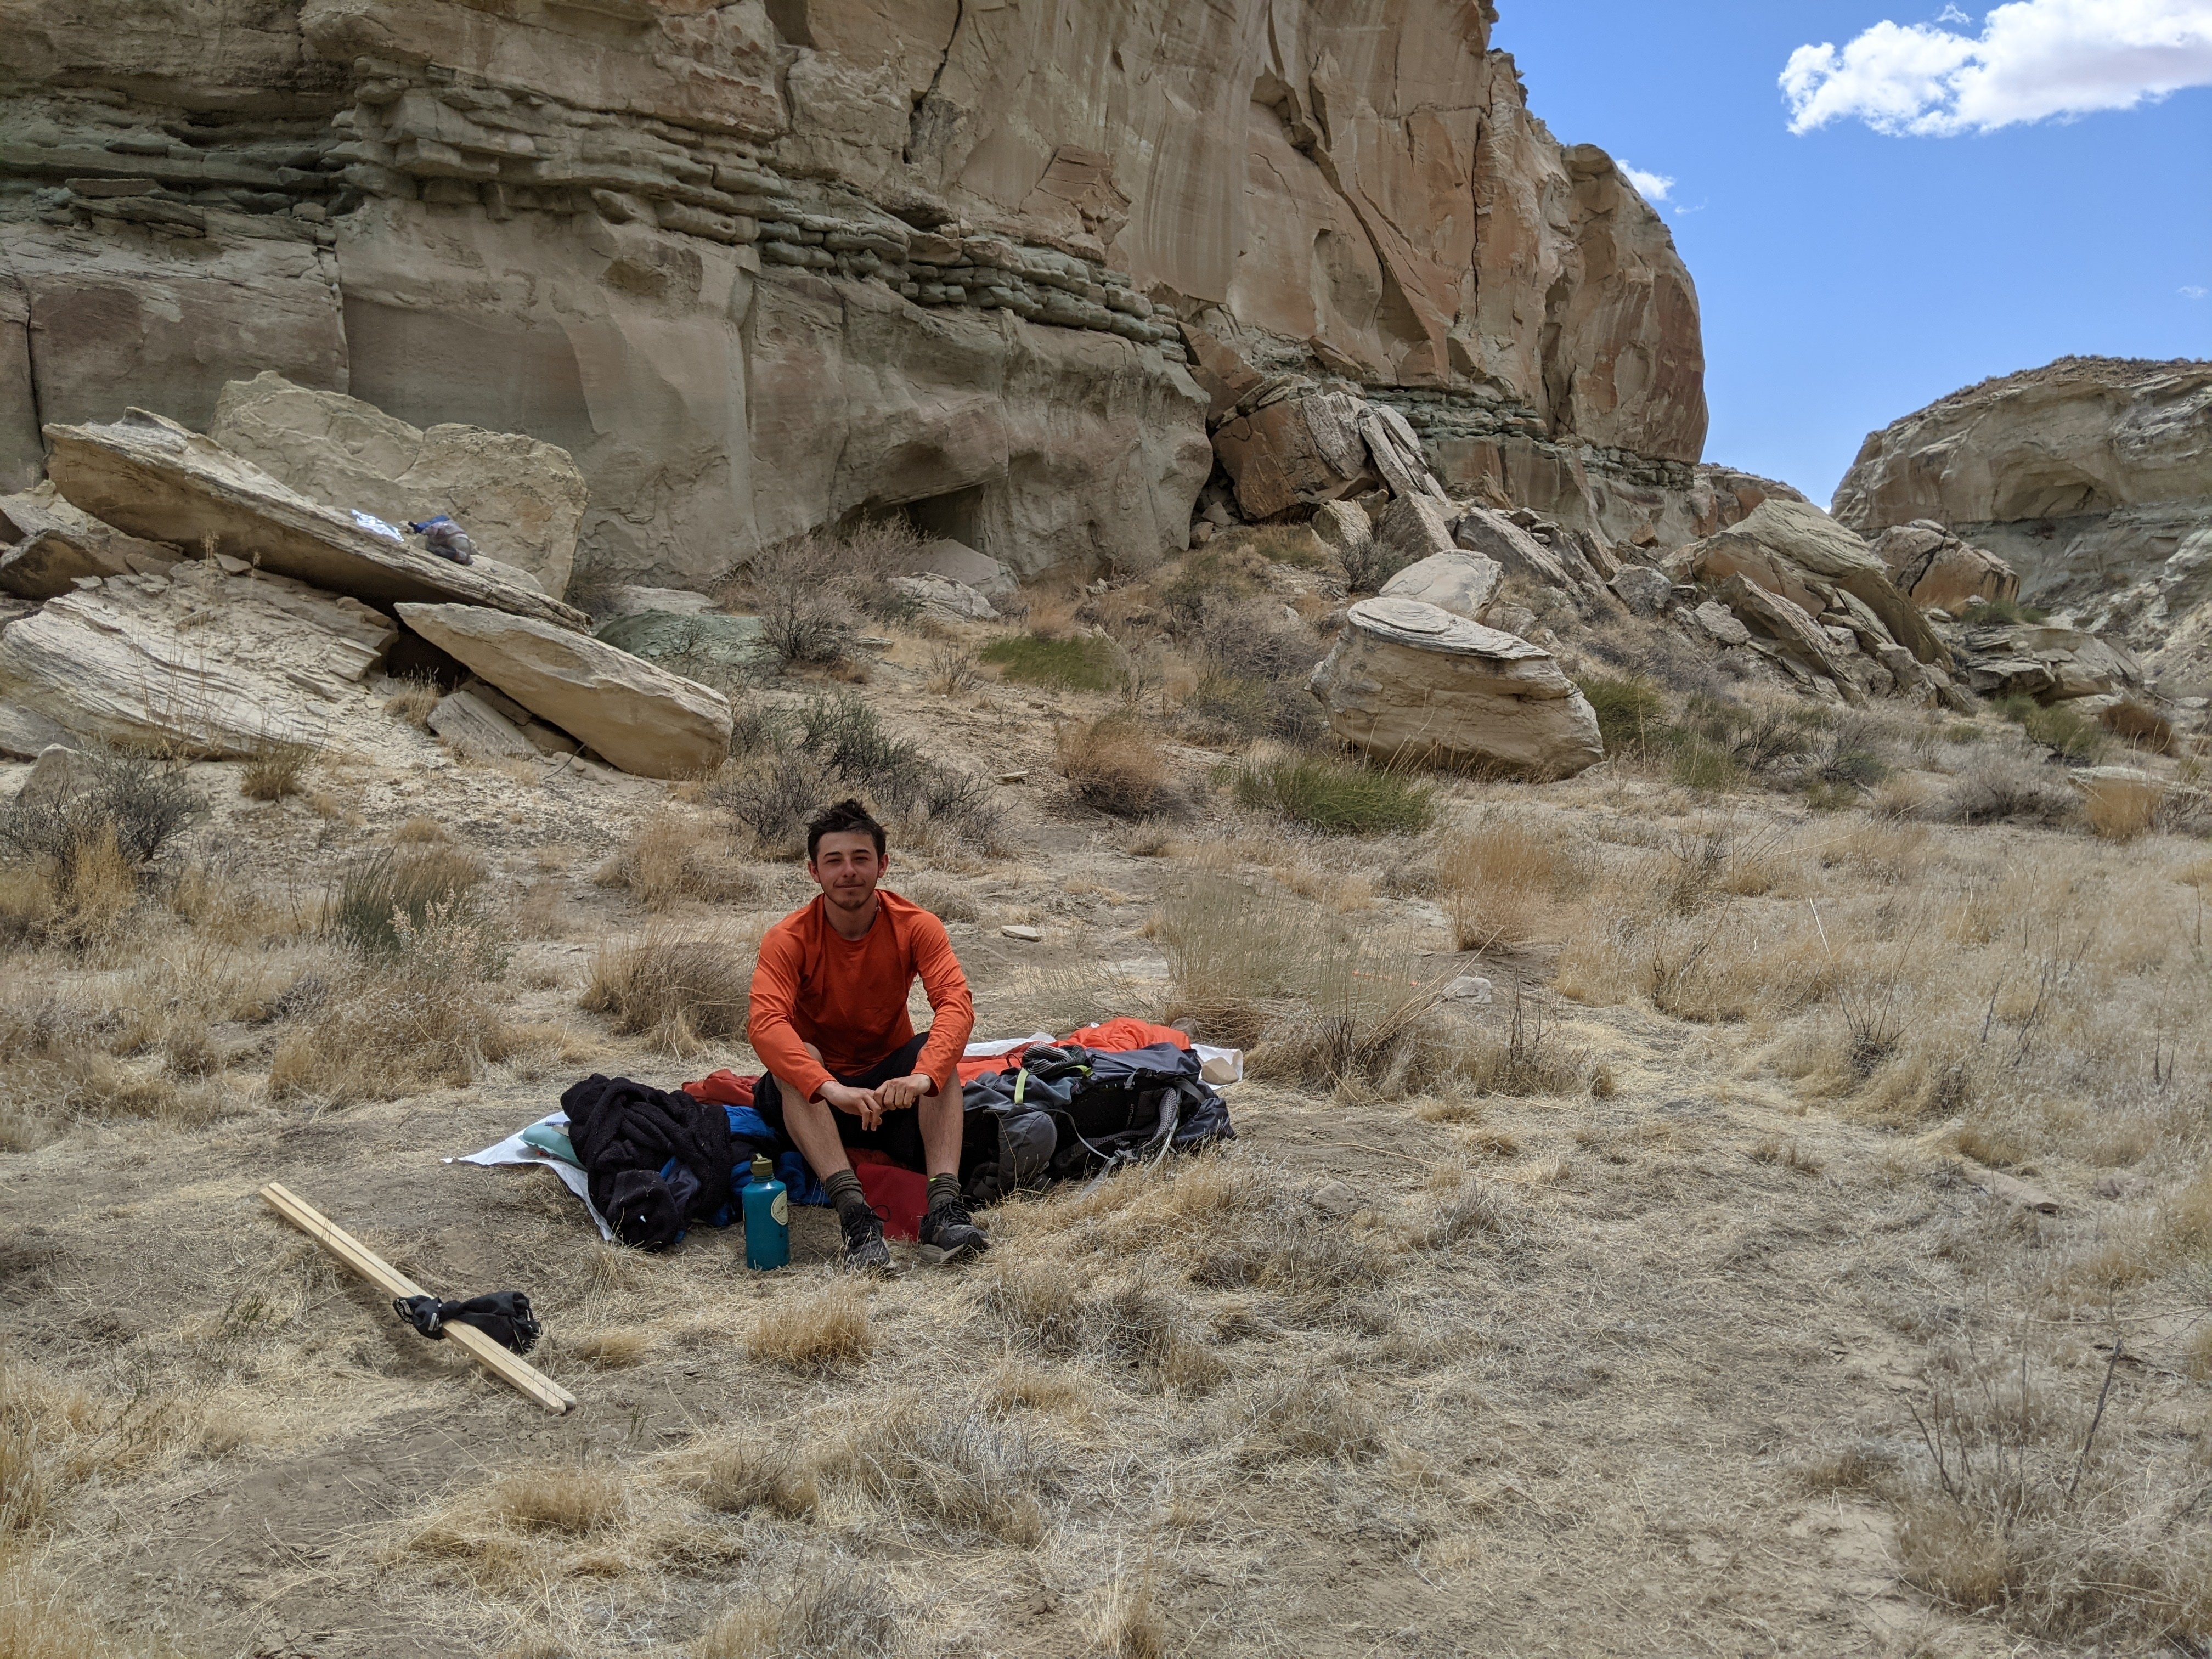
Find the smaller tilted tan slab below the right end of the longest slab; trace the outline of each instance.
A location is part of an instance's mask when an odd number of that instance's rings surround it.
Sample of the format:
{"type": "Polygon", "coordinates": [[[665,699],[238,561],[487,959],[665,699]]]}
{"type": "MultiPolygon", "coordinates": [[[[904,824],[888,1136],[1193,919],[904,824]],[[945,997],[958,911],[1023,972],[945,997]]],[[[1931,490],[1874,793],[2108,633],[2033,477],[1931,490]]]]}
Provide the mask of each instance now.
{"type": "Polygon", "coordinates": [[[471,604],[400,604],[398,615],[624,772],[692,776],[730,757],[730,699],[626,650],[471,604]]]}

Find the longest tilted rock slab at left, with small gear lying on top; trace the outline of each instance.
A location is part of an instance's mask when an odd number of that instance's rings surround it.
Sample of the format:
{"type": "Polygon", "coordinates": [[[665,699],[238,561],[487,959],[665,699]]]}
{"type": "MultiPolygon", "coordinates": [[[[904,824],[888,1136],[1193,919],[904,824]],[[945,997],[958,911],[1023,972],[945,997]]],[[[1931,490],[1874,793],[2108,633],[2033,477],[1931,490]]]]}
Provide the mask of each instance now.
{"type": "MultiPolygon", "coordinates": [[[[250,560],[369,604],[462,602],[582,628],[560,599],[440,560],[307,500],[212,438],[131,409],[106,427],[46,427],[55,487],[86,513],[133,535],[250,560]]],[[[367,518],[367,513],[363,513],[367,518]]]]}

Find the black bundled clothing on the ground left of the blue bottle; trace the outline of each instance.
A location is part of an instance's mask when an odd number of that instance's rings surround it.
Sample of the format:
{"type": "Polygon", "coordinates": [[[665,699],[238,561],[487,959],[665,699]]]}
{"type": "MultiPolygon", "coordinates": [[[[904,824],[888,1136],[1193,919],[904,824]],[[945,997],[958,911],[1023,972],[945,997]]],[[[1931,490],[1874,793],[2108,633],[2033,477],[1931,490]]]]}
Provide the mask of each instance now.
{"type": "Polygon", "coordinates": [[[591,1201],[624,1243],[666,1250],[728,1214],[739,1148],[721,1106],[597,1073],[560,1104],[591,1201]]]}

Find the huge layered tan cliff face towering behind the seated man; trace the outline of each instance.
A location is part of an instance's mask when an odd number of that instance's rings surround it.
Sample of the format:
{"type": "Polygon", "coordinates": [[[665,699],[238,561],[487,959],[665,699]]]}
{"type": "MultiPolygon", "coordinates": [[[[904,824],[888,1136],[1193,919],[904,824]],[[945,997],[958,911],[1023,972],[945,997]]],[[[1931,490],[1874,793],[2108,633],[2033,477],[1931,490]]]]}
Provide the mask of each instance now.
{"type": "Polygon", "coordinates": [[[1672,241],[1460,0],[0,0],[0,489],[44,422],[206,427],[274,369],[566,449],[580,580],[889,509],[1141,566],[1212,467],[1197,325],[1613,540],[1772,493],[1694,471],[1672,241]]]}

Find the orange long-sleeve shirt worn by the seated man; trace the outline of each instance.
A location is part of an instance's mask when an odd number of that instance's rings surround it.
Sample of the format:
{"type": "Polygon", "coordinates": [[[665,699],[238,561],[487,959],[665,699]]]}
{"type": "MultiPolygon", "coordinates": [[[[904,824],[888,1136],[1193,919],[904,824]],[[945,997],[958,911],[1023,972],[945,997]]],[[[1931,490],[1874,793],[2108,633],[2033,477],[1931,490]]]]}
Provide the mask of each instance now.
{"type": "Polygon", "coordinates": [[[938,1091],[958,1091],[956,1068],[975,1029],[975,1002],[945,922],[898,894],[876,889],[876,920],[858,940],[841,938],[814,898],[768,929],[752,969],[752,1053],[812,1099],[836,1073],[858,1073],[914,1037],[907,991],[914,975],[936,1020],[916,1071],[938,1091]],[[821,1048],[814,1060],[803,1044],[821,1048]]]}

